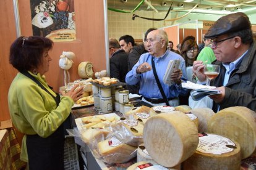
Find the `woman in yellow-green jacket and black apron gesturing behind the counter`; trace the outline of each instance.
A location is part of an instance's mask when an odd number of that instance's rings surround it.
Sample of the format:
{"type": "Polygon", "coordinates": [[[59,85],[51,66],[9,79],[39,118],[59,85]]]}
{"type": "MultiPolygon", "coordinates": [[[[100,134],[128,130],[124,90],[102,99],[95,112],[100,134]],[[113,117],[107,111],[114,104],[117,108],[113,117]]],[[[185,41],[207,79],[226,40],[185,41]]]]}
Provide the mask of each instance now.
{"type": "Polygon", "coordinates": [[[30,170],[64,169],[62,123],[83,94],[75,85],[59,97],[46,83],[52,47],[48,38],[21,36],[10,49],[9,62],[19,73],[9,89],[9,110],[14,126],[25,134],[20,160],[28,162],[30,170]]]}

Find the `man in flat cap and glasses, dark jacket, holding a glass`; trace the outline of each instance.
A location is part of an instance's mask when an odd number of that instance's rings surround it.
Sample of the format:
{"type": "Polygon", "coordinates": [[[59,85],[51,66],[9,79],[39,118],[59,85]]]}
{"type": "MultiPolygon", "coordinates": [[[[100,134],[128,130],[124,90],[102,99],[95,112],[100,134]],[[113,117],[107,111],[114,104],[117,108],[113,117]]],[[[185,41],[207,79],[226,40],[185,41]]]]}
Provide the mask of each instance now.
{"type": "MultiPolygon", "coordinates": [[[[205,38],[213,40],[213,63],[221,67],[220,74],[211,80],[211,86],[221,92],[211,95],[213,110],[243,106],[256,111],[256,44],[247,15],[238,12],[221,17],[205,38]]],[[[194,62],[193,72],[200,83],[206,80],[203,68],[202,62],[194,62]]]]}

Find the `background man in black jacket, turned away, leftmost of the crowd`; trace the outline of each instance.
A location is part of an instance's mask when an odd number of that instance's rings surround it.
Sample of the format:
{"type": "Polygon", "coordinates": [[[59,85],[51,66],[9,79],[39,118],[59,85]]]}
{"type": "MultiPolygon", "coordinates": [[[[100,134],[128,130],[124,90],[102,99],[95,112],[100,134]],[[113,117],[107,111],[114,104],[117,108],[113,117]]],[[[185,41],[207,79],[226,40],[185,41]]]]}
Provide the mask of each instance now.
{"type": "Polygon", "coordinates": [[[114,38],[109,38],[109,67],[110,77],[117,78],[121,82],[125,82],[127,74],[128,54],[119,48],[119,43],[114,38]]]}

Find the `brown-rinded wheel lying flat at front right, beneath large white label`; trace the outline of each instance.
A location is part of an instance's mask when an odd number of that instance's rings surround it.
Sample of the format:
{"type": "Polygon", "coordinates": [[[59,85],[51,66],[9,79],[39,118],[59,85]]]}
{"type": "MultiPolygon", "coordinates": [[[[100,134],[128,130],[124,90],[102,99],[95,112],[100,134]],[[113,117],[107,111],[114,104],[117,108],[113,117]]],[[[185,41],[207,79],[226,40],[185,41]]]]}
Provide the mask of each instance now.
{"type": "Polygon", "coordinates": [[[241,147],[237,142],[234,142],[234,144],[233,151],[221,155],[202,153],[196,150],[190,158],[182,163],[182,167],[184,170],[239,170],[241,168],[241,147]]]}

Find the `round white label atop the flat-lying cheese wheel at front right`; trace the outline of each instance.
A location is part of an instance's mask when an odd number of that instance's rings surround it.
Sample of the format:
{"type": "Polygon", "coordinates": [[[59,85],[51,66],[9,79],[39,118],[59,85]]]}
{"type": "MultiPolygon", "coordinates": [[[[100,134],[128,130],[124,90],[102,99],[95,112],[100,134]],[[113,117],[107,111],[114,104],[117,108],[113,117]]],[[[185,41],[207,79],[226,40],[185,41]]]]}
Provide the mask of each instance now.
{"type": "Polygon", "coordinates": [[[221,155],[223,153],[232,152],[234,148],[227,146],[235,146],[230,139],[215,134],[207,134],[207,136],[199,137],[197,151],[202,153],[211,153],[221,155]]]}

